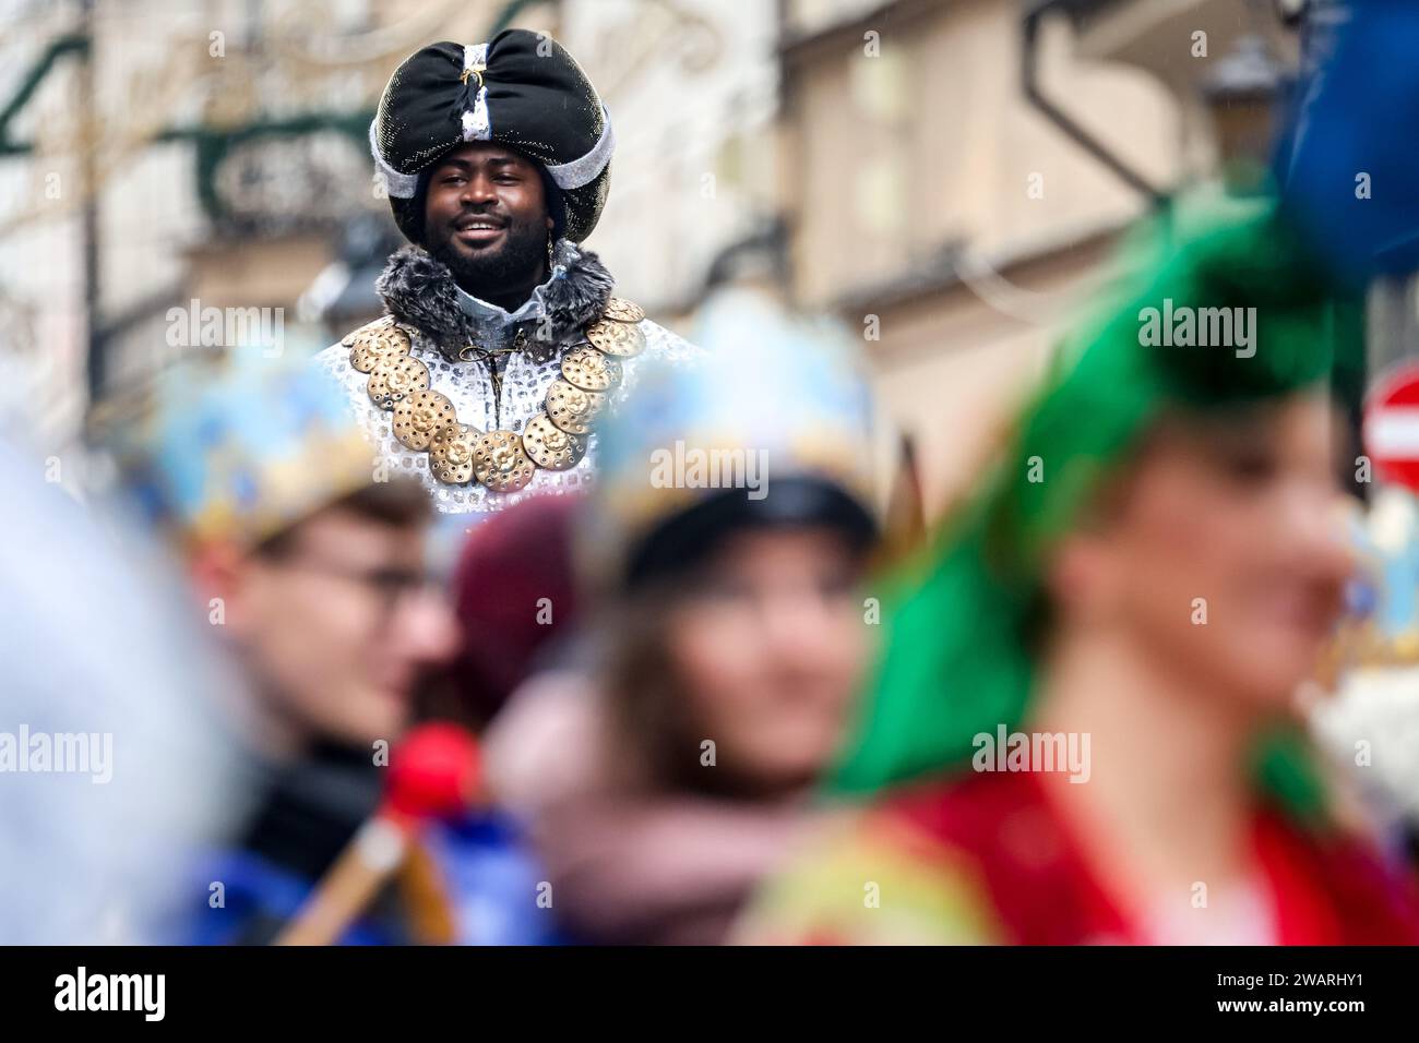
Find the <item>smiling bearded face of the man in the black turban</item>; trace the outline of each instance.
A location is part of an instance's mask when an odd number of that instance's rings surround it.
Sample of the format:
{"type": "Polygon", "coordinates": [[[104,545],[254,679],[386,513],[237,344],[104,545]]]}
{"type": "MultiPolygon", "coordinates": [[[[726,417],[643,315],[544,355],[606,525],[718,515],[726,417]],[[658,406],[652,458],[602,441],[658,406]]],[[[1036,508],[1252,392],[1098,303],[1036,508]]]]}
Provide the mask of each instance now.
{"type": "Polygon", "coordinates": [[[541,282],[551,228],[542,175],[514,149],[463,145],[430,170],[426,247],[475,297],[497,301],[541,282]]]}

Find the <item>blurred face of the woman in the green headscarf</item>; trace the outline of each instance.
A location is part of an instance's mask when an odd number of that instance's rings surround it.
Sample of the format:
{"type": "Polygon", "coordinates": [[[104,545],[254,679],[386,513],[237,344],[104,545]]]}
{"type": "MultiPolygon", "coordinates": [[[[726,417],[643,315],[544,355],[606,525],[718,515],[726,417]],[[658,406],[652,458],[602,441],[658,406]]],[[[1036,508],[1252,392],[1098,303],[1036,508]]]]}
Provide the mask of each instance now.
{"type": "Polygon", "coordinates": [[[1332,437],[1320,396],[1165,423],[1100,525],[1063,545],[1056,600],[1206,691],[1284,707],[1349,570],[1332,437]]]}

